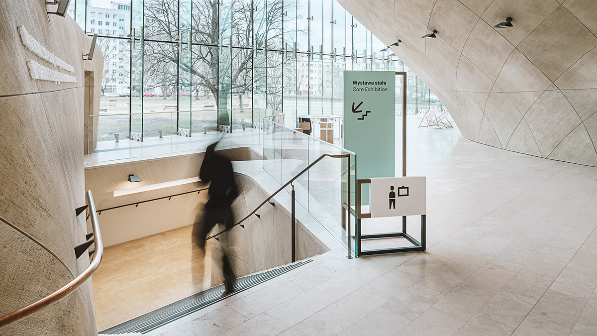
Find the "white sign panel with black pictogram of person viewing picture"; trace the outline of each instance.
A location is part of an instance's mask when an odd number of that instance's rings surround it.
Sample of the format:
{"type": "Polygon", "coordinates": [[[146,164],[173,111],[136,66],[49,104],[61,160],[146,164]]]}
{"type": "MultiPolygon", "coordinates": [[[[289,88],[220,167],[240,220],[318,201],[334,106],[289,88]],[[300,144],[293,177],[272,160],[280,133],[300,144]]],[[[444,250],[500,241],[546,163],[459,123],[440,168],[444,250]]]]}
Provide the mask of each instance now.
{"type": "Polygon", "coordinates": [[[371,217],[426,215],[427,178],[371,178],[371,217]]]}

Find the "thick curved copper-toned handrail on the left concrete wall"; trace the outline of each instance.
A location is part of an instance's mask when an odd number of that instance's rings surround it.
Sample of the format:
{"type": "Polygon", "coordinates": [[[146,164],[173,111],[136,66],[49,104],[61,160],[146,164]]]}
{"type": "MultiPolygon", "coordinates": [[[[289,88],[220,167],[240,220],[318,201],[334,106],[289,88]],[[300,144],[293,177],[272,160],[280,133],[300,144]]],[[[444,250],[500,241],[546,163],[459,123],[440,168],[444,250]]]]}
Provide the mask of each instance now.
{"type": "Polygon", "coordinates": [[[89,205],[89,212],[91,213],[91,228],[93,230],[93,237],[95,239],[96,245],[96,252],[93,255],[93,259],[91,260],[89,266],[85,268],[85,270],[79,274],[75,279],[71,282],[67,283],[63,288],[60,288],[56,292],[48,295],[45,298],[42,298],[35,303],[30,304],[27,307],[20,308],[19,310],[15,310],[12,313],[8,313],[4,316],[0,316],[0,329],[4,328],[5,326],[10,325],[11,323],[18,322],[24,319],[27,316],[39,311],[47,306],[50,306],[57,301],[62,300],[63,298],[67,297],[68,295],[72,294],[72,292],[76,291],[85,281],[91,278],[91,275],[97,270],[97,267],[100,265],[101,257],[104,254],[104,245],[101,241],[101,233],[100,233],[100,225],[97,221],[97,213],[96,213],[96,204],[93,203],[93,196],[91,196],[91,190],[88,190],[86,193],[87,196],[87,204],[89,205]]]}

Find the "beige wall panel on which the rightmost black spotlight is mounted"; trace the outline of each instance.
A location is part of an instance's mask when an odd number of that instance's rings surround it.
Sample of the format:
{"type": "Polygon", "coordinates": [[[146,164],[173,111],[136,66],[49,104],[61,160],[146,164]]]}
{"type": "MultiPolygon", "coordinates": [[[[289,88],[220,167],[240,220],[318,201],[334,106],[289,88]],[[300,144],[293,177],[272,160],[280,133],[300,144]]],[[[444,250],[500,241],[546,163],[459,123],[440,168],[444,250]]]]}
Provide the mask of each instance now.
{"type": "Polygon", "coordinates": [[[490,26],[512,17],[516,29],[498,29],[504,38],[518,45],[558,8],[555,0],[494,0],[481,16],[490,26]]]}

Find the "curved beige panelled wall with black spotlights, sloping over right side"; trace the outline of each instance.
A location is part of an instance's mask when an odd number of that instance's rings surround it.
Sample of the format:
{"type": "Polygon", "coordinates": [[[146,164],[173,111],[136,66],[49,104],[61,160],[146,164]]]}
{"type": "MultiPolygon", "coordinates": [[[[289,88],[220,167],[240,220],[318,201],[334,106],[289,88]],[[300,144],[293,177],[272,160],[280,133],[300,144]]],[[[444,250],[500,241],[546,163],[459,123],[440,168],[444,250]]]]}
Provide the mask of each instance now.
{"type": "Polygon", "coordinates": [[[597,166],[597,1],[338,1],[385,44],[402,40],[392,51],[465,138],[597,166]],[[493,28],[506,17],[513,28],[493,28]]]}

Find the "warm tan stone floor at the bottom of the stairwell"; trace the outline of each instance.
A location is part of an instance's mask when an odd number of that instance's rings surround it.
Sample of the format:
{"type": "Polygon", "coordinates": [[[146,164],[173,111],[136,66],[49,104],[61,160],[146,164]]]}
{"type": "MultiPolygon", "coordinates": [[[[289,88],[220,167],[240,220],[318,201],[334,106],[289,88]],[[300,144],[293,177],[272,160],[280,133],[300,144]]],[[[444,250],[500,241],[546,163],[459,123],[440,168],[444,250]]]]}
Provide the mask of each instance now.
{"type": "Polygon", "coordinates": [[[210,288],[210,243],[204,256],[191,231],[189,225],[104,249],[92,279],[98,331],[210,288]]]}

